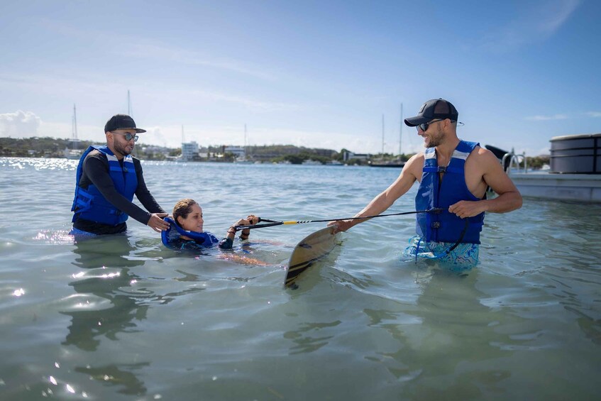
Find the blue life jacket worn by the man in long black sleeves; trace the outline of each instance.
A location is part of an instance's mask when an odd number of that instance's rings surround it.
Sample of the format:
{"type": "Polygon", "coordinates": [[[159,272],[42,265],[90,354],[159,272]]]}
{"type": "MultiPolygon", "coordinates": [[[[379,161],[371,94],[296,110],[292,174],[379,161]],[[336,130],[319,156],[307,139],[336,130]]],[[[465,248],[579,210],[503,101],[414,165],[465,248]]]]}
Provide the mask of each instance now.
{"type": "Polygon", "coordinates": [[[83,174],[84,160],[92,150],[99,150],[106,155],[106,158],[109,160],[109,175],[119,194],[131,202],[138,188],[138,176],[136,175],[136,168],[133,165],[131,155],[126,155],[123,158],[123,168],[121,168],[119,160],[108,147],[92,145],[87,148],[82,158],[79,159],[79,165],[77,165],[75,197],[71,207],[71,211],[75,212],[75,214],[72,221],[85,219],[116,226],[125,222],[129,216],[107,201],[94,184],[90,184],[87,189],[79,187],[79,180],[83,174]]]}

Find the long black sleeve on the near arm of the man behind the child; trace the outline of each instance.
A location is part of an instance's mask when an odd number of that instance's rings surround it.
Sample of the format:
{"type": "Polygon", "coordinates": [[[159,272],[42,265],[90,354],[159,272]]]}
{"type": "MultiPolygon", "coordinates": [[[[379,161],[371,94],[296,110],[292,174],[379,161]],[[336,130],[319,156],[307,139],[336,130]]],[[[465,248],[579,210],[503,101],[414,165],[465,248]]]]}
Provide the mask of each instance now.
{"type": "MultiPolygon", "coordinates": [[[[138,162],[139,163],[139,162],[138,162]]],[[[92,182],[98,188],[102,196],[121,212],[126,213],[133,219],[146,225],[150,220],[150,213],[129,202],[115,189],[115,185],[109,175],[109,160],[100,152],[91,152],[84,160],[82,180],[79,185],[87,188],[85,180],[92,182]],[[83,184],[83,185],[82,185],[83,184]],[[84,186],[85,185],[85,186],[84,186]]],[[[140,183],[138,182],[138,187],[140,183]]],[[[144,186],[145,187],[145,186],[144,186]]],[[[148,191],[148,189],[146,189],[148,191]]],[[[137,193],[137,191],[136,191],[137,193]]]]}

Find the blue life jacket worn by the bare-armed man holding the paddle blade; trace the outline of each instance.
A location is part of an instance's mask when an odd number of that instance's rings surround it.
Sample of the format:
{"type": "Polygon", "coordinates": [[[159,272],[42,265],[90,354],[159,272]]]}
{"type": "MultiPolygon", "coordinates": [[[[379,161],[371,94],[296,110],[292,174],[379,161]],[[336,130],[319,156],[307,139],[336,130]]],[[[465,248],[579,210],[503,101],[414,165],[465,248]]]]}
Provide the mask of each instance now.
{"type": "MultiPolygon", "coordinates": [[[[440,167],[436,160],[436,149],[424,151],[424,170],[415,197],[416,210],[441,208],[442,212],[417,214],[416,231],[426,242],[480,243],[480,231],[484,224],[484,212],[465,219],[448,212],[451,204],[461,200],[478,201],[465,184],[465,159],[480,143],[461,141],[453,151],[447,167],[440,167]],[[439,173],[443,173],[440,179],[439,173]],[[465,232],[464,232],[465,231],[465,232]],[[463,233],[463,238],[461,237],[463,233]]],[[[486,195],[483,199],[486,198],[486,195]]]]}

